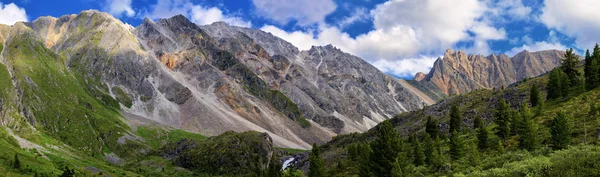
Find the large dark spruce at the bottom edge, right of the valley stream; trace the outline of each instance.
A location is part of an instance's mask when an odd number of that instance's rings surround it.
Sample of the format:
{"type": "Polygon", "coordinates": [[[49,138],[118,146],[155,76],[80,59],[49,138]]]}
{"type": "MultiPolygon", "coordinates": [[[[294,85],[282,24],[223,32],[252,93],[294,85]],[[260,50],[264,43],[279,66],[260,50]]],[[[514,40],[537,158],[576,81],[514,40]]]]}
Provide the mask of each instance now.
{"type": "Polygon", "coordinates": [[[400,147],[400,136],[389,120],[377,126],[377,138],[371,143],[370,170],[375,176],[389,177],[394,168],[400,147]]]}

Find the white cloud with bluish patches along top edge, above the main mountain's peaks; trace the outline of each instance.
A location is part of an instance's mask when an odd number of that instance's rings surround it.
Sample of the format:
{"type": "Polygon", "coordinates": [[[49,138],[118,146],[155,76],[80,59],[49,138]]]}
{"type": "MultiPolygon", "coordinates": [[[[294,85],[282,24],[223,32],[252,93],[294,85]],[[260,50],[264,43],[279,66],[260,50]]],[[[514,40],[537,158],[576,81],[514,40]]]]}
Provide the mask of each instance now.
{"type": "Polygon", "coordinates": [[[156,5],[151,6],[149,11],[141,13],[141,17],[151,19],[169,18],[182,14],[198,25],[207,25],[217,21],[223,21],[230,25],[250,27],[252,23],[244,21],[240,17],[225,14],[217,7],[205,7],[193,4],[189,0],[158,0],[156,5]]]}

